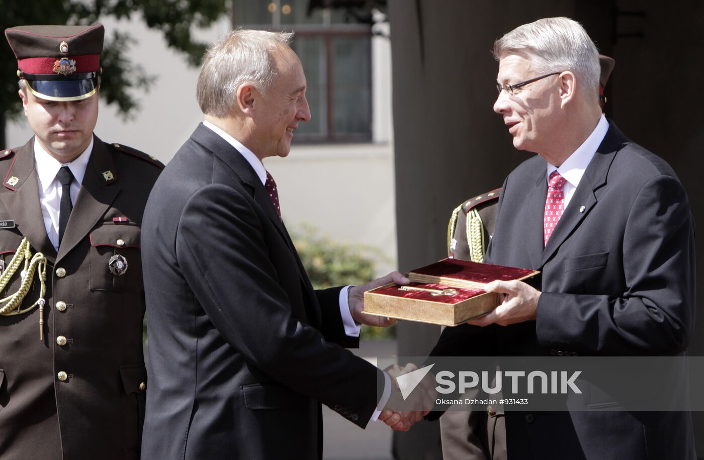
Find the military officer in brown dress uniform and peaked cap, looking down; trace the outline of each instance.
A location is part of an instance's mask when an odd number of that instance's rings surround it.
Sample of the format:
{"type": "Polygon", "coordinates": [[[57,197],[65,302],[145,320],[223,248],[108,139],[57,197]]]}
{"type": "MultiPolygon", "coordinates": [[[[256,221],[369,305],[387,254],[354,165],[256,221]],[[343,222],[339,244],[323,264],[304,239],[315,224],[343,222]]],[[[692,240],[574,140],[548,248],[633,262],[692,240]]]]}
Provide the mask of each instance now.
{"type": "Polygon", "coordinates": [[[139,231],[163,165],[93,134],[103,26],[5,31],[34,136],[0,151],[0,452],[138,459],[139,231]]]}

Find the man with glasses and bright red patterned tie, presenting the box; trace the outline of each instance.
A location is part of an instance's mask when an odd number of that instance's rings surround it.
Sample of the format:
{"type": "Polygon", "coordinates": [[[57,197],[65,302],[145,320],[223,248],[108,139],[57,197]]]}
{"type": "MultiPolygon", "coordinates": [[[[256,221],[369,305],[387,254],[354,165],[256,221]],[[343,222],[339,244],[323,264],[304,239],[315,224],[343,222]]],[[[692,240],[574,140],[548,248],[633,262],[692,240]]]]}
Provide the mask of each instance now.
{"type": "MultiPolygon", "coordinates": [[[[498,99],[520,150],[486,262],[542,271],[494,281],[503,303],[446,328],[436,356],[683,353],[694,324],[694,224],[669,165],[603,117],[596,47],[567,18],[494,45],[498,99]]],[[[508,459],[693,459],[686,412],[507,411],[508,459]]]]}

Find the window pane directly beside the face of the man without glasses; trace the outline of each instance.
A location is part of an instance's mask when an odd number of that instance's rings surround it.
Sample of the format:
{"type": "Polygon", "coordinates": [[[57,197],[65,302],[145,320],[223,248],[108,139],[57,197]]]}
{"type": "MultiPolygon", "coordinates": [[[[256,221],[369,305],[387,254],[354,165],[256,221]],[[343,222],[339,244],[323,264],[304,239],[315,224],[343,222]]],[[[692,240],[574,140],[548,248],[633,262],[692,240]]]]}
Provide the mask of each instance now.
{"type": "Polygon", "coordinates": [[[310,106],[310,121],[298,124],[296,134],[324,136],[327,131],[325,39],[322,37],[296,37],[291,47],[301,59],[303,72],[306,72],[306,82],[308,83],[306,98],[308,106],[310,106]]]}

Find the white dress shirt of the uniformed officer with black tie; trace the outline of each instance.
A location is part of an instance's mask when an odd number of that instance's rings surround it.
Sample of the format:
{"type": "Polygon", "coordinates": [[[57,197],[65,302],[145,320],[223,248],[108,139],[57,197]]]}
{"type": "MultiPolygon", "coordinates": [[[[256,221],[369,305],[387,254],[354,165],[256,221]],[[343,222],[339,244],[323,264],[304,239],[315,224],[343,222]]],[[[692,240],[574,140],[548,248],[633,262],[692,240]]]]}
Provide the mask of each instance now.
{"type": "Polygon", "coordinates": [[[81,153],[78,158],[70,163],[61,163],[53,156],[49,155],[42,145],[34,137],[34,169],[37,170],[37,182],[39,184],[39,205],[42,207],[42,218],[49,241],[58,251],[58,212],[61,205],[61,182],[56,179],[56,173],[61,167],[68,166],[73,174],[71,183],[71,203],[76,203],[78,192],[81,189],[83,176],[93,151],[93,137],[91,137],[88,148],[81,153]]]}

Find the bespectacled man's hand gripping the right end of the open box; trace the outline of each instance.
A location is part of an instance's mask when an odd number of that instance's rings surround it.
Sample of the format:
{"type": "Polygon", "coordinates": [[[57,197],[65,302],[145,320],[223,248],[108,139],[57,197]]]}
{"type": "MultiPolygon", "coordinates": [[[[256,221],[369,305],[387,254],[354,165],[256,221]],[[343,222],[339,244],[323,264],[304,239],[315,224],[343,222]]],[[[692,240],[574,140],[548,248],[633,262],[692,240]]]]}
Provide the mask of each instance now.
{"type": "Polygon", "coordinates": [[[536,319],[540,291],[523,281],[491,281],[485,290],[491,293],[503,294],[503,302],[483,317],[470,319],[467,324],[474,326],[489,326],[499,324],[522,323],[536,319]]]}

